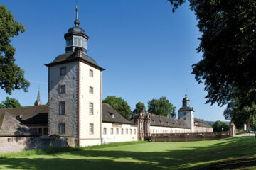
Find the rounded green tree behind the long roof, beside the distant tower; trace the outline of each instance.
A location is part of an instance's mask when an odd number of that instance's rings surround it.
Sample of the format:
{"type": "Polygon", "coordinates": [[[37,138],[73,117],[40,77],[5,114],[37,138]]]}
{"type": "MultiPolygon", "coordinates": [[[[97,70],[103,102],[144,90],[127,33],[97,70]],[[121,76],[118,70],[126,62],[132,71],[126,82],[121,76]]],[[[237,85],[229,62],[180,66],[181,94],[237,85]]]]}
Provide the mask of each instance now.
{"type": "Polygon", "coordinates": [[[171,102],[169,102],[166,97],[161,97],[159,99],[152,99],[148,102],[148,112],[154,113],[156,115],[169,115],[175,112],[175,106],[171,102]]]}

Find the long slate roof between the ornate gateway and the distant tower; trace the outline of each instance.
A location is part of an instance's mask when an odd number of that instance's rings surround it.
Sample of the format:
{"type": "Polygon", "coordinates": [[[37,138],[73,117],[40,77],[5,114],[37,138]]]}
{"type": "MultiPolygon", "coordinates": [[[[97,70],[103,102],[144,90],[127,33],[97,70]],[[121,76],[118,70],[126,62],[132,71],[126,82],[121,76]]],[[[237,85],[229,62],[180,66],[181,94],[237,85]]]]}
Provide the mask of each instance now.
{"type": "MultiPolygon", "coordinates": [[[[167,118],[166,116],[161,115],[154,115],[151,113],[142,113],[145,116],[151,115],[151,123],[152,126],[165,126],[171,128],[184,128],[190,129],[188,125],[186,125],[184,120],[181,119],[174,119],[174,118],[167,118]]],[[[134,122],[134,119],[132,120],[134,122]]]]}

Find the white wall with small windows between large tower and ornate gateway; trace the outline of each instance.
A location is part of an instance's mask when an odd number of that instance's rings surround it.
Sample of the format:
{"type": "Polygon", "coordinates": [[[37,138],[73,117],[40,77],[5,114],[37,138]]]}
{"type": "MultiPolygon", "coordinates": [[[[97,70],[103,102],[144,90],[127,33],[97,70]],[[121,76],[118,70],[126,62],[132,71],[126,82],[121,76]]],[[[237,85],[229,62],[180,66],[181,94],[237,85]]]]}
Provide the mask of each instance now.
{"type": "Polygon", "coordinates": [[[102,143],[109,142],[126,142],[126,141],[137,141],[138,130],[137,126],[130,124],[119,124],[119,123],[102,123],[102,143]],[[107,129],[107,134],[103,133],[104,128],[107,129]],[[113,128],[113,134],[111,134],[111,128],[113,128]],[[117,134],[117,128],[119,133],[117,134]],[[124,133],[122,134],[122,129],[124,133]],[[128,134],[126,132],[128,130],[128,134]],[[132,130],[132,134],[130,132],[132,130]],[[134,134],[134,130],[136,130],[134,134]]]}

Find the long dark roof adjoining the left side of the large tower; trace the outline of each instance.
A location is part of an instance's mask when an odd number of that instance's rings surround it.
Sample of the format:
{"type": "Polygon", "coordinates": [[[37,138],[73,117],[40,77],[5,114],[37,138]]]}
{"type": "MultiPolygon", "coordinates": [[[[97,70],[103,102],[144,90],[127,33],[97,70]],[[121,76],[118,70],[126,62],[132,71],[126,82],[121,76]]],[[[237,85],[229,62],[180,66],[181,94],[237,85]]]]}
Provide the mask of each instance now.
{"type": "Polygon", "coordinates": [[[4,108],[0,113],[8,112],[14,118],[20,116],[23,124],[47,124],[48,123],[48,106],[28,106],[21,108],[4,108]]]}

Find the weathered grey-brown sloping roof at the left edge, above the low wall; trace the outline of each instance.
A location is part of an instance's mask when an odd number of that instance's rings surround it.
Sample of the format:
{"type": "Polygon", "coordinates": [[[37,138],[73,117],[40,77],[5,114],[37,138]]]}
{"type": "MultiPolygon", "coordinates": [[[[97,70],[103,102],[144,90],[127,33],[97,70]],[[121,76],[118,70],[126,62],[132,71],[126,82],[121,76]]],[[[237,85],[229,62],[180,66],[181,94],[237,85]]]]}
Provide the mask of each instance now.
{"type": "Polygon", "coordinates": [[[0,113],[0,136],[37,136],[8,112],[0,113]]]}

